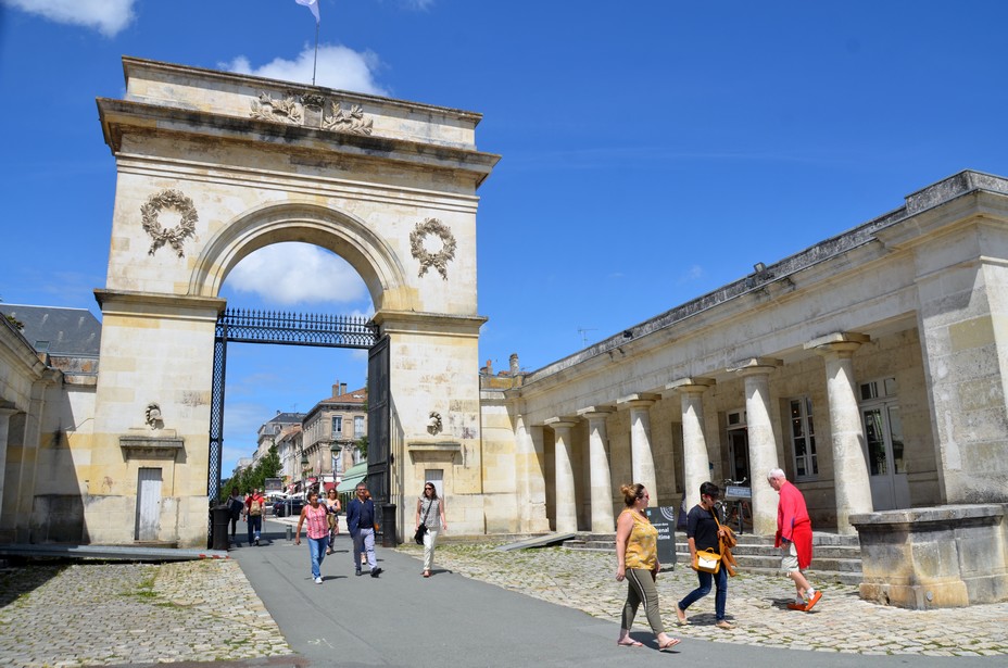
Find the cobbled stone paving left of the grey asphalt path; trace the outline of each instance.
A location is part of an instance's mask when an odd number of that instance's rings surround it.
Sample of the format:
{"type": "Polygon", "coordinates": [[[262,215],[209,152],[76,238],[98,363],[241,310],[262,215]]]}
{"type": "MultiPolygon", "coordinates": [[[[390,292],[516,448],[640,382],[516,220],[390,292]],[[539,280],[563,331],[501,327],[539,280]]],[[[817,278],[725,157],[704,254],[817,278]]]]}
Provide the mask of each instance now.
{"type": "Polygon", "coordinates": [[[0,571],[0,666],[213,661],[293,651],[237,562],[0,571]]]}

